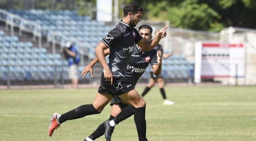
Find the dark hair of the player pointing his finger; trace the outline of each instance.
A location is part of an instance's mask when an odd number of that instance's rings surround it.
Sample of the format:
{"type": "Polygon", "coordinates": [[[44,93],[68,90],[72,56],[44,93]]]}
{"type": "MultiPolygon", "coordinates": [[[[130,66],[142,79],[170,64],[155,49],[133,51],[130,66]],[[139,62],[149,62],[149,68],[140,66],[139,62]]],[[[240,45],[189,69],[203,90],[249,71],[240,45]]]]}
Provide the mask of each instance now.
{"type": "Polygon", "coordinates": [[[124,7],[124,17],[126,17],[129,12],[135,15],[138,12],[143,12],[143,10],[144,10],[143,6],[140,6],[137,2],[127,3],[124,7]]]}

